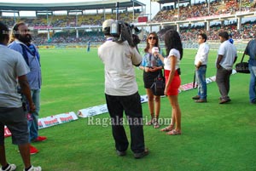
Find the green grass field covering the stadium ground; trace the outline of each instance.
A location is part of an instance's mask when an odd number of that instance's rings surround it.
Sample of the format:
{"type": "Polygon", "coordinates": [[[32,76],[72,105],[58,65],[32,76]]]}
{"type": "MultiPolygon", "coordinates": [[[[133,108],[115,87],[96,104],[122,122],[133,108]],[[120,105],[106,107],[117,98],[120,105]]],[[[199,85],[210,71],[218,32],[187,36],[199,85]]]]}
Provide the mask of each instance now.
{"type": "MultiPolygon", "coordinates": [[[[181,62],[182,84],[194,76],[195,50],[184,50],[181,62]]],[[[40,49],[43,71],[40,117],[67,111],[79,111],[105,104],[104,68],[96,49],[40,49]]],[[[209,55],[207,77],[215,75],[217,51],[209,55]]],[[[241,58],[241,54],[239,54],[241,58]]],[[[240,60],[240,59],[239,59],[240,60]]],[[[139,93],[145,94],[143,72],[135,68],[139,93]]],[[[49,140],[33,143],[39,153],[32,156],[34,165],[47,171],[101,170],[164,170],[164,171],[244,171],[256,170],[256,105],[248,100],[249,75],[235,74],[230,78],[230,104],[218,104],[216,83],[208,84],[208,103],[196,104],[191,97],[196,89],[182,92],[181,136],[166,135],[151,126],[144,127],[149,155],[136,160],[128,149],[125,157],[115,154],[111,126],[89,125],[88,118],[79,118],[39,133],[49,140]]],[[[171,117],[167,98],[161,99],[161,118],[171,117]]],[[[149,117],[148,104],[143,104],[143,117],[149,117]]],[[[108,114],[94,117],[104,120],[108,114]]],[[[164,128],[165,125],[161,125],[164,128]]],[[[129,128],[125,126],[130,140],[129,128]]],[[[20,154],[11,138],[6,139],[9,162],[23,168],[20,154]]]]}

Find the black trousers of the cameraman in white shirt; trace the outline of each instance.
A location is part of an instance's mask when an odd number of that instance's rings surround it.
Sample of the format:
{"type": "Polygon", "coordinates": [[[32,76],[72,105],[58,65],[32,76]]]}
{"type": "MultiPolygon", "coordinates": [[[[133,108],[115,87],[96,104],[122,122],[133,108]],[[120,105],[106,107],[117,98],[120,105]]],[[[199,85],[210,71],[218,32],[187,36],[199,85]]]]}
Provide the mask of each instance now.
{"type": "Polygon", "coordinates": [[[143,134],[143,109],[138,93],[128,96],[113,96],[105,94],[108,112],[112,121],[112,134],[115,148],[118,151],[126,151],[129,145],[125,134],[125,123],[129,124],[131,132],[131,151],[134,153],[145,150],[143,134]],[[127,122],[124,122],[125,111],[127,122]]]}

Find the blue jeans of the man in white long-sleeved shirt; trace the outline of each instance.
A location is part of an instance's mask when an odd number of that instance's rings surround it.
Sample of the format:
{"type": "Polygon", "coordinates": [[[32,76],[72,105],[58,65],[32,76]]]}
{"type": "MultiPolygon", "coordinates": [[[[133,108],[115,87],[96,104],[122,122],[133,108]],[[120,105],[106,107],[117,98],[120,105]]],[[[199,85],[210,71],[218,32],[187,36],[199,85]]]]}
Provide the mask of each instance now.
{"type": "Polygon", "coordinates": [[[198,95],[201,100],[207,99],[207,82],[206,82],[207,66],[201,66],[195,71],[196,83],[198,84],[198,95]]]}

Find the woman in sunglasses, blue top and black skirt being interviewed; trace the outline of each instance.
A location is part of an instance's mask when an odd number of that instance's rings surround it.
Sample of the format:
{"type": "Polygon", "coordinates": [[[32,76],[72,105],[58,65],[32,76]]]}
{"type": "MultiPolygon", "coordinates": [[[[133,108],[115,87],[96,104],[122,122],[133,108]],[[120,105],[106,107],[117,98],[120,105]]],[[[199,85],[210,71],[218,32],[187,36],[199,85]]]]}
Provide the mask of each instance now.
{"type": "Polygon", "coordinates": [[[146,88],[148,95],[148,109],[151,116],[150,121],[146,123],[146,125],[153,124],[154,128],[160,128],[158,122],[160,114],[160,95],[154,95],[150,87],[154,83],[154,78],[161,74],[160,72],[162,72],[164,64],[160,58],[153,55],[153,48],[160,50],[159,39],[155,32],[148,34],[147,46],[144,49],[145,54],[140,69],[143,70],[144,88],[146,88]]]}

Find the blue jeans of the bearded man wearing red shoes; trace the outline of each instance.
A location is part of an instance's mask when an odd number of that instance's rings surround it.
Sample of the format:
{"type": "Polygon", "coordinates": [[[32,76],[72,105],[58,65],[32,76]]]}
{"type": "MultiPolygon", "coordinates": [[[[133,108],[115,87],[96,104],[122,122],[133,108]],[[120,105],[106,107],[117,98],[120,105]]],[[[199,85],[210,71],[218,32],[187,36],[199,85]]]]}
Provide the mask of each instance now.
{"type": "Polygon", "coordinates": [[[38,115],[40,111],[40,89],[32,89],[32,101],[36,106],[36,110],[32,112],[32,122],[30,124],[30,140],[38,138],[38,115]]]}

